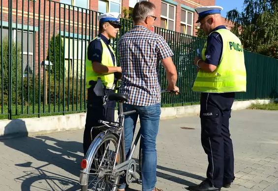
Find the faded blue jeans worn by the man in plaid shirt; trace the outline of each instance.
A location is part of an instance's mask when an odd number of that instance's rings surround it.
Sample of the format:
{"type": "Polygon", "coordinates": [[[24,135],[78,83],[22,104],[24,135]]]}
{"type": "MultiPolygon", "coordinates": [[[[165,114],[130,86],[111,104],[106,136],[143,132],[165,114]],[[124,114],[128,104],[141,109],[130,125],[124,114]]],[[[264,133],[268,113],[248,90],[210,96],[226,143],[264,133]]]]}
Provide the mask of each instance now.
{"type": "MultiPolygon", "coordinates": [[[[142,191],[153,191],[156,184],[156,136],[158,133],[160,119],[160,103],[151,106],[136,106],[124,104],[124,112],[136,110],[138,113],[124,117],[124,137],[126,158],[131,151],[131,144],[134,137],[135,126],[140,119],[141,148],[142,148],[142,191]]],[[[137,144],[138,146],[139,144],[137,144]]],[[[124,183],[121,178],[120,184],[124,183]]],[[[124,189],[125,184],[119,189],[124,189]]]]}

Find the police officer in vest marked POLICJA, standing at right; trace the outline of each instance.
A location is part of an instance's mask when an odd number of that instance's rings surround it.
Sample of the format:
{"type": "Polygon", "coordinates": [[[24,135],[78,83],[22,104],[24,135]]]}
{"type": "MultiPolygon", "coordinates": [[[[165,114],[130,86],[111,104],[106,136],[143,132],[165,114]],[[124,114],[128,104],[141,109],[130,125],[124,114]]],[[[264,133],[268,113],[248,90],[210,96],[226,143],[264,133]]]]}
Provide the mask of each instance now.
{"type": "Polygon", "coordinates": [[[229,188],[234,176],[229,119],[235,92],[246,92],[246,69],[241,41],[225,28],[222,7],[198,7],[200,28],[208,36],[201,57],[194,59],[198,74],[193,85],[200,92],[201,143],[208,155],[207,178],[190,191],[229,188]]]}

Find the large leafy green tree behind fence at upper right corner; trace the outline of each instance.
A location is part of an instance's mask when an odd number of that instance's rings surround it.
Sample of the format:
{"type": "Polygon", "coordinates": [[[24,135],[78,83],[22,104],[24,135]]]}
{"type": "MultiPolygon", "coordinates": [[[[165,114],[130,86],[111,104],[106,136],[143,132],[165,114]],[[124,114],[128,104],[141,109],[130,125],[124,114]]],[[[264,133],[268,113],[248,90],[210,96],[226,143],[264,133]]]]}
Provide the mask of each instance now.
{"type": "Polygon", "coordinates": [[[245,0],[243,12],[233,9],[226,19],[235,22],[232,31],[246,50],[260,53],[278,40],[278,0],[245,0]]]}

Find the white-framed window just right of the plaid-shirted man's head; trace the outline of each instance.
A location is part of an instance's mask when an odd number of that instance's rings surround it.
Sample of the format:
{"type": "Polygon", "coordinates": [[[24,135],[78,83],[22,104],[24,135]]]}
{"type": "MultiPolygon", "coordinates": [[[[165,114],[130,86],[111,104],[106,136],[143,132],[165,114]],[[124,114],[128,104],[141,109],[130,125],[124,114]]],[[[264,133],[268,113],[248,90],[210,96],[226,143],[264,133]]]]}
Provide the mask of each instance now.
{"type": "Polygon", "coordinates": [[[161,2],[160,27],[175,31],[176,6],[161,2]]]}

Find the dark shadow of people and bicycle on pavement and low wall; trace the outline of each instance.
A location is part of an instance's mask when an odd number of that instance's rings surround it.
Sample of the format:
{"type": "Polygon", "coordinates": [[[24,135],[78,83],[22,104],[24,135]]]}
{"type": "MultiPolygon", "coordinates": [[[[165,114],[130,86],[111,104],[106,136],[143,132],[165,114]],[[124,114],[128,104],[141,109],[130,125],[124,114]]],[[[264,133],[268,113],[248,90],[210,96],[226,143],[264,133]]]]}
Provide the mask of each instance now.
{"type": "MultiPolygon", "coordinates": [[[[4,136],[1,137],[0,142],[4,143],[4,145],[18,150],[22,153],[25,153],[32,157],[32,161],[23,163],[23,164],[15,164],[18,167],[26,167],[27,171],[24,171],[27,178],[21,181],[22,184],[22,191],[30,191],[31,185],[34,181],[44,180],[48,174],[51,175],[53,179],[57,179],[56,181],[64,184],[70,184],[75,187],[78,184],[78,180],[74,181],[74,179],[69,178],[71,177],[79,177],[79,170],[80,170],[80,163],[83,159],[83,145],[82,143],[78,143],[75,141],[61,141],[55,138],[51,138],[48,136],[35,136],[35,137],[28,137],[28,130],[25,124],[25,121],[22,119],[13,119],[9,124],[5,126],[4,129],[4,136]],[[14,132],[19,132],[13,134],[14,132]],[[9,138],[10,135],[17,136],[20,138],[9,138]],[[47,142],[47,143],[46,143],[47,142]],[[79,153],[79,154],[78,154],[79,153]],[[35,167],[31,167],[28,163],[34,162],[34,164],[38,164],[37,161],[43,162],[41,167],[37,167],[39,165],[35,165],[35,167]],[[46,165],[53,165],[62,169],[59,170],[59,174],[55,174],[50,169],[54,169],[55,167],[47,168],[48,171],[43,169],[43,166],[46,165]],[[36,169],[34,171],[34,169],[36,169]],[[32,173],[30,173],[32,171],[32,173]],[[47,174],[44,173],[48,172],[47,174]],[[64,176],[63,176],[64,175],[64,176]],[[61,180],[59,181],[59,177],[61,180]],[[67,180],[63,180],[67,178],[67,180]]],[[[24,155],[21,155],[24,157],[24,155]]],[[[22,161],[28,161],[30,159],[25,159],[22,161]]],[[[56,171],[56,170],[55,170],[56,171]]],[[[24,176],[22,176],[24,177],[24,176]]],[[[20,179],[19,177],[17,179],[20,179]]],[[[49,178],[46,178],[49,179],[49,178]]],[[[78,179],[78,178],[75,178],[78,179]]],[[[77,190],[76,188],[71,188],[68,191],[77,190]]]]}

